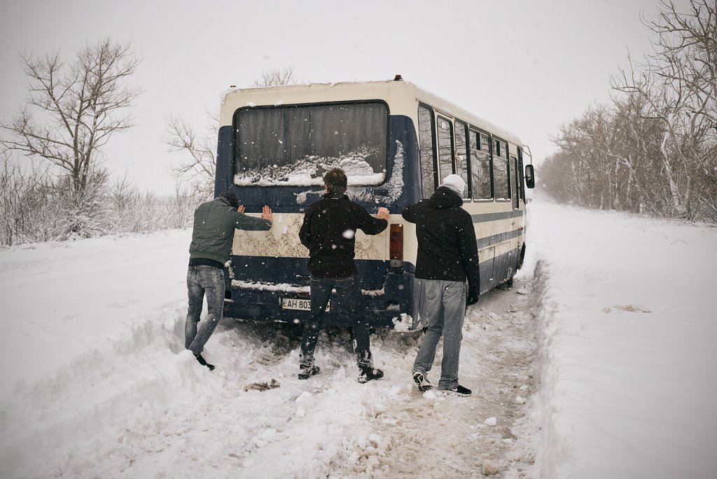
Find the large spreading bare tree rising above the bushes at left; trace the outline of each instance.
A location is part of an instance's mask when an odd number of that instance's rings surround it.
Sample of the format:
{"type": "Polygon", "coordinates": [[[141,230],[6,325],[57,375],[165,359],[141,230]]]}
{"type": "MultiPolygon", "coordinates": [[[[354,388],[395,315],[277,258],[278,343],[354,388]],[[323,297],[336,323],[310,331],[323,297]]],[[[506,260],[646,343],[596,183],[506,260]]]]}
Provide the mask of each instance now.
{"type": "Polygon", "coordinates": [[[124,80],[138,66],[129,43],[103,39],[87,44],[65,63],[60,52],[20,56],[29,82],[29,97],[19,114],[0,129],[11,133],[0,143],[30,157],[41,157],[70,177],[69,186],[82,191],[88,181],[104,177],[100,151],[113,133],[133,126],[120,111],[133,105],[141,90],[124,80]]]}

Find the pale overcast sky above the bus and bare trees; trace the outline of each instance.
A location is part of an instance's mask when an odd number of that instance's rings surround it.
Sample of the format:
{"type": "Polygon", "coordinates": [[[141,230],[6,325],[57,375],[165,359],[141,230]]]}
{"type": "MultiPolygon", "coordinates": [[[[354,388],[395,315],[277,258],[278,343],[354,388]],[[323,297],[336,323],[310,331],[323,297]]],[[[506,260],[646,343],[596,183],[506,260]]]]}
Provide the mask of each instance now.
{"type": "MultiPolygon", "coordinates": [[[[18,53],[130,41],[142,62],[136,127],[105,155],[143,189],[174,190],[181,161],[163,145],[167,119],[203,132],[229,85],[293,66],[303,82],[405,80],[516,133],[540,161],[560,125],[609,98],[627,51],[650,47],[640,14],[659,0],[527,1],[3,1],[0,118],[26,93],[18,53]]],[[[538,171],[539,175],[539,171],[538,171]]]]}

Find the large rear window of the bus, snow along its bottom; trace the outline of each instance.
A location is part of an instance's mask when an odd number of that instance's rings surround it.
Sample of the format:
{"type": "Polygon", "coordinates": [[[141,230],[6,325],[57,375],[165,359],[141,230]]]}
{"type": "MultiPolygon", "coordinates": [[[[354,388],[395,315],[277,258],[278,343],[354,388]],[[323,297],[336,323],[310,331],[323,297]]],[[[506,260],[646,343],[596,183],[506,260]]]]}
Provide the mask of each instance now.
{"type": "Polygon", "coordinates": [[[388,110],[384,103],[331,103],[237,110],[234,184],[323,186],[341,168],[348,184],[386,179],[388,110]]]}

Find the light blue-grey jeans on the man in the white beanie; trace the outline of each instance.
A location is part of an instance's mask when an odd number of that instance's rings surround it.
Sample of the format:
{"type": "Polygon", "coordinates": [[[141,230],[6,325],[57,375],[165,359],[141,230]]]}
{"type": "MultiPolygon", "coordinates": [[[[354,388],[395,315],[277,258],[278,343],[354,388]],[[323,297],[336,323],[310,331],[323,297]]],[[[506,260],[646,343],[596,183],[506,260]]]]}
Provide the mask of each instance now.
{"type": "Polygon", "coordinates": [[[465,316],[465,283],[462,281],[422,280],[426,291],[425,314],[428,328],[423,336],[413,372],[427,374],[433,366],[438,340],[443,336],[443,359],[438,389],[458,385],[460,341],[465,316]]]}

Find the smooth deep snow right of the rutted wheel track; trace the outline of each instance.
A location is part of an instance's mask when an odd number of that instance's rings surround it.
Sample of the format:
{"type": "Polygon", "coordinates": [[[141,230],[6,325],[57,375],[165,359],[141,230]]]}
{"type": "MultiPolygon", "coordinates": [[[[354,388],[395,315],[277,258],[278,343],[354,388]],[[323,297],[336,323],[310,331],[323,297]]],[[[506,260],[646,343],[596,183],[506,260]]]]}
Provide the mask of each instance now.
{"type": "Polygon", "coordinates": [[[534,475],[715,477],[717,229],[529,206],[534,475]]]}

